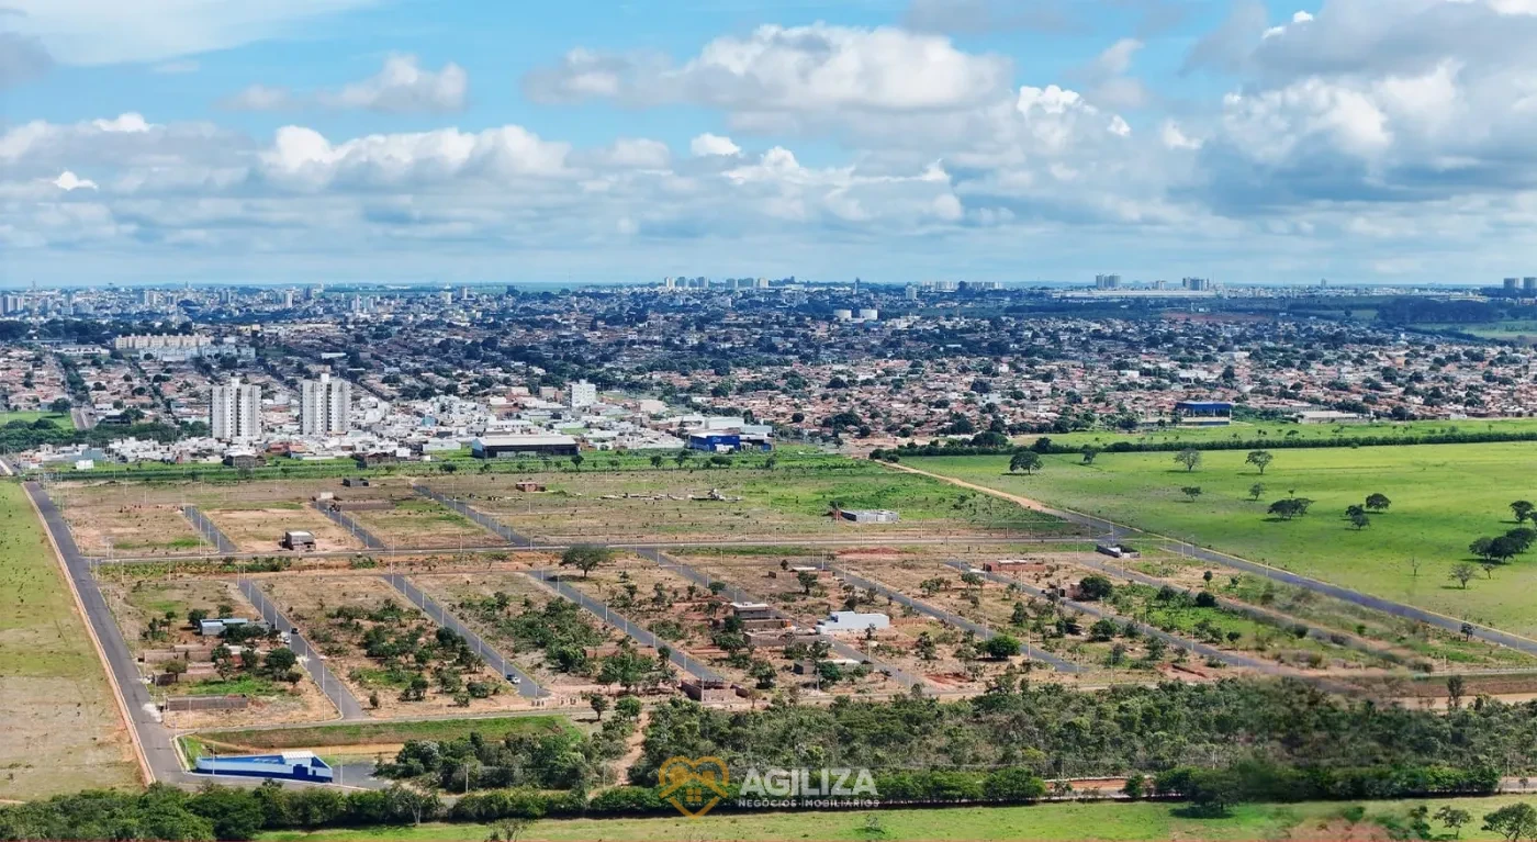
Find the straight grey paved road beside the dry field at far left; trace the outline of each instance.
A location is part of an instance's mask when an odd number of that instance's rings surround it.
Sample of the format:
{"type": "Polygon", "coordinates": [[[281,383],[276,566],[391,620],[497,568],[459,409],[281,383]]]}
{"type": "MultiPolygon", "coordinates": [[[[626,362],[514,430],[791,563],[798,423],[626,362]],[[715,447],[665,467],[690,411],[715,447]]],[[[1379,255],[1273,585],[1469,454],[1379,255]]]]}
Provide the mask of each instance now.
{"type": "Polygon", "coordinates": [[[63,513],[37,482],[25,482],[23,487],[37,510],[43,513],[43,525],[48,527],[58,552],[65,556],[65,567],[69,570],[69,578],[86,608],[86,622],[101,641],[112,678],[118,693],[121,693],[123,704],[128,707],[129,724],[144,750],[151,776],[166,784],[195,782],[194,776],[181,770],[181,759],[174,745],[175,734],[161,724],[160,711],[155,708],[154,699],[149,698],[144,679],[138,675],[134,655],[129,651],[128,642],[123,641],[123,632],[117,627],[95,576],[91,575],[91,561],[80,555],[80,549],[65,524],[63,513]]]}

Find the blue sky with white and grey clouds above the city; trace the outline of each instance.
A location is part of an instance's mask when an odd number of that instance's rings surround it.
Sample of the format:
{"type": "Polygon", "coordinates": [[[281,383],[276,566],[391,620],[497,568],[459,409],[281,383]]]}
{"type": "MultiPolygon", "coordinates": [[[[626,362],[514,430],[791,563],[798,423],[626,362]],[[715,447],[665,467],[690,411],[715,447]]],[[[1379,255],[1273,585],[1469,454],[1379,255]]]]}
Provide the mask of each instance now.
{"type": "Polygon", "coordinates": [[[0,0],[0,286],[1537,275],[1537,0],[0,0]]]}

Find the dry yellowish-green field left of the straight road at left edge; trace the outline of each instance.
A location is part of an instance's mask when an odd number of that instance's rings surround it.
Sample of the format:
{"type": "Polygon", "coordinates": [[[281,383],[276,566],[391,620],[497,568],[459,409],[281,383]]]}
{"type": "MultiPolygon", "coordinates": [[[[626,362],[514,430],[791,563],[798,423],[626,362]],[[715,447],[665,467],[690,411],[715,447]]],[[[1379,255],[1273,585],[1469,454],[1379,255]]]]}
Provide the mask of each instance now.
{"type": "Polygon", "coordinates": [[[138,782],[103,670],[22,487],[0,484],[0,799],[138,782]]]}

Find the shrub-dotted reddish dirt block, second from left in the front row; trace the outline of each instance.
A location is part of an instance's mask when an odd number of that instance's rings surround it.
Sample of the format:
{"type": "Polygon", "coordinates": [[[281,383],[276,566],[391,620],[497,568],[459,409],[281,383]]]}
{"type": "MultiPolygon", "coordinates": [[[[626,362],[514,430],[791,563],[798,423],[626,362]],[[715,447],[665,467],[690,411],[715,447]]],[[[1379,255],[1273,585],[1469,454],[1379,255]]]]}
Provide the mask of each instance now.
{"type": "Polygon", "coordinates": [[[473,653],[460,661],[437,648],[437,624],[383,579],[290,575],[264,578],[261,587],[377,716],[486,713],[529,704],[473,653]],[[369,658],[367,635],[381,635],[398,655],[369,658]],[[412,653],[426,653],[429,662],[423,665],[421,655],[412,653]],[[420,699],[409,694],[413,676],[427,679],[420,699]],[[495,694],[472,696],[472,682],[495,694]],[[378,699],[377,707],[370,696],[378,699]]]}

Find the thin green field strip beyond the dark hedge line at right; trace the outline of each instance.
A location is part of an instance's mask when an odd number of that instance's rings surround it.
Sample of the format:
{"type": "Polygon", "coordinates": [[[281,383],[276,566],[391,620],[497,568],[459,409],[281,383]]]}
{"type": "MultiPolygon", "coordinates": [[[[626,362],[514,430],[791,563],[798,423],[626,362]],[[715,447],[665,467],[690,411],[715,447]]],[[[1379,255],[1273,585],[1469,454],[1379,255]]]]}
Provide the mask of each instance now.
{"type": "MultiPolygon", "coordinates": [[[[1362,436],[1428,436],[1446,433],[1537,433],[1537,418],[1502,418],[1496,421],[1462,419],[1462,421],[1382,421],[1374,424],[1285,424],[1285,423],[1243,423],[1237,421],[1227,427],[1168,427],[1165,430],[1145,430],[1136,433],[1117,433],[1110,430],[1091,430],[1082,433],[1047,433],[1053,444],[1068,447],[1108,447],[1117,441],[1134,444],[1190,444],[1199,447],[1217,441],[1334,441],[1362,436]]],[[[1021,444],[1030,444],[1037,436],[1017,438],[1021,444]]]]}

